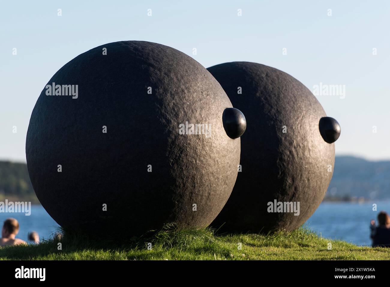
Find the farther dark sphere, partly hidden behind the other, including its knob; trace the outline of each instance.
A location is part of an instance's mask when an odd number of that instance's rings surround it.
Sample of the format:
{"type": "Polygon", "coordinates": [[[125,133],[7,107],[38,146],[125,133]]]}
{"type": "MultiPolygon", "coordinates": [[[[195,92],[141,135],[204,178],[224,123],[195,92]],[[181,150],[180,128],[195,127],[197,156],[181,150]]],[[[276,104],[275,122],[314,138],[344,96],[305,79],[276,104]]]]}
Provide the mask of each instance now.
{"type": "Polygon", "coordinates": [[[222,232],[296,229],[325,196],[339,124],[300,81],[275,68],[232,62],[208,71],[247,120],[242,170],[211,225],[222,232]]]}

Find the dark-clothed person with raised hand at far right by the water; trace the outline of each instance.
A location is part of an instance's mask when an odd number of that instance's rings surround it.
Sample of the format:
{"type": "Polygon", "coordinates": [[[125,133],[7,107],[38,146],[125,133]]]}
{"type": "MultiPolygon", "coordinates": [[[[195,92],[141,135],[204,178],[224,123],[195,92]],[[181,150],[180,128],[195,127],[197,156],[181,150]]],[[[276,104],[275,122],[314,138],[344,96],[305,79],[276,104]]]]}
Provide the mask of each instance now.
{"type": "Polygon", "coordinates": [[[378,214],[378,226],[371,220],[372,247],[390,247],[390,217],[385,211],[378,214]]]}

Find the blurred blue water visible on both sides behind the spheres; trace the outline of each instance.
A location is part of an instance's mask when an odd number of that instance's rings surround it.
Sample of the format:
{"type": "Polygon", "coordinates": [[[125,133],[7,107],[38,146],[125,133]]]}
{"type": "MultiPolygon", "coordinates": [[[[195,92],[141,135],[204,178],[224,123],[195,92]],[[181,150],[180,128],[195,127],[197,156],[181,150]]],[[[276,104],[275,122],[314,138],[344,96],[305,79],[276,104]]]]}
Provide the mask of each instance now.
{"type": "MultiPolygon", "coordinates": [[[[31,207],[31,215],[23,213],[0,213],[0,223],[5,218],[13,217],[19,221],[18,238],[27,240],[28,232],[35,230],[39,237],[48,238],[55,232],[58,224],[42,206],[31,207]]],[[[341,239],[357,245],[370,245],[370,221],[377,219],[381,210],[390,212],[390,201],[366,202],[324,202],[307,220],[305,226],[318,232],[325,238],[341,239]],[[372,211],[372,204],[377,204],[377,211],[372,211]]]]}

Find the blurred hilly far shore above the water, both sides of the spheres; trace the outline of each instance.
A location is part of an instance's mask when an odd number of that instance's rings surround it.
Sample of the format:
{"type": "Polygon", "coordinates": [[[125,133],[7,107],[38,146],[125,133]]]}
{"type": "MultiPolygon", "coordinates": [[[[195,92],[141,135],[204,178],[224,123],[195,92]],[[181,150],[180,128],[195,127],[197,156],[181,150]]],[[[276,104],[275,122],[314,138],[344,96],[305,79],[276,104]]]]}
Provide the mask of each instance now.
{"type": "MultiPolygon", "coordinates": [[[[337,156],[325,198],[348,200],[351,197],[390,199],[390,161],[337,156]]],[[[25,163],[0,161],[0,201],[5,198],[39,203],[25,163]]]]}

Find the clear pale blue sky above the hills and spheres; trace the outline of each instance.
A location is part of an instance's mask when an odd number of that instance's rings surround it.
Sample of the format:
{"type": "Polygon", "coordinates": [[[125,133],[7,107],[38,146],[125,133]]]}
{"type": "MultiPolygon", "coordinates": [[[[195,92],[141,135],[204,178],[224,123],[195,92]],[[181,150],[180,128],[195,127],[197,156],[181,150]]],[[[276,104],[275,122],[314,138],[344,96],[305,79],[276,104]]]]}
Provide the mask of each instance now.
{"type": "Polygon", "coordinates": [[[58,69],[122,40],[165,44],[204,67],[266,64],[310,90],[320,82],[345,85],[344,99],[317,96],[341,125],[336,153],[390,159],[389,11],[389,1],[3,1],[0,159],[25,161],[32,109],[58,69]]]}

